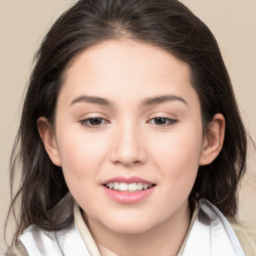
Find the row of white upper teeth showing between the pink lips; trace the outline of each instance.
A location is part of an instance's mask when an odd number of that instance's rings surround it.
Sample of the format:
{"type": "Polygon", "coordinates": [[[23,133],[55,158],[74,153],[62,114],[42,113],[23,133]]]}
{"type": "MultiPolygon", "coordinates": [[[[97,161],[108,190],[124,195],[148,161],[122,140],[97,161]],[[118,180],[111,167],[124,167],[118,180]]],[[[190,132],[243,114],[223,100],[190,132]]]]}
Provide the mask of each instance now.
{"type": "Polygon", "coordinates": [[[125,183],[125,182],[109,182],[104,184],[107,188],[111,190],[115,190],[118,192],[138,192],[141,190],[146,190],[155,184],[147,184],[143,182],[132,182],[132,183],[125,183]]]}

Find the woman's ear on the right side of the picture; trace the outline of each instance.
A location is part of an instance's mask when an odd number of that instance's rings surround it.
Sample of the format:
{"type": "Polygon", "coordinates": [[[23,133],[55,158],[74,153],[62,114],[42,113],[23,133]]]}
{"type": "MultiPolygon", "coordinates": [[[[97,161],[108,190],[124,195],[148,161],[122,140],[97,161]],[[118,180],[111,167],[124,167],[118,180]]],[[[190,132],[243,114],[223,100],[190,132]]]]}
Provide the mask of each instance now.
{"type": "Polygon", "coordinates": [[[208,136],[204,136],[199,165],[212,162],[220,152],[225,133],[225,118],[217,113],[208,124],[208,136]]]}

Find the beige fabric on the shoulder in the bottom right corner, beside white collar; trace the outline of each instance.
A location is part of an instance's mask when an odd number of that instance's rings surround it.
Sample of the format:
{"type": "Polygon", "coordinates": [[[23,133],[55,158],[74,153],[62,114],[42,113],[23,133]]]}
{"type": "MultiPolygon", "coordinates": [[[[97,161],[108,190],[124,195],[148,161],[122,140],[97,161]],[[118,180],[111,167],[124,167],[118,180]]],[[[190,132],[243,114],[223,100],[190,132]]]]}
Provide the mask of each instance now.
{"type": "Polygon", "coordinates": [[[246,256],[256,255],[256,222],[227,217],[246,256]]]}

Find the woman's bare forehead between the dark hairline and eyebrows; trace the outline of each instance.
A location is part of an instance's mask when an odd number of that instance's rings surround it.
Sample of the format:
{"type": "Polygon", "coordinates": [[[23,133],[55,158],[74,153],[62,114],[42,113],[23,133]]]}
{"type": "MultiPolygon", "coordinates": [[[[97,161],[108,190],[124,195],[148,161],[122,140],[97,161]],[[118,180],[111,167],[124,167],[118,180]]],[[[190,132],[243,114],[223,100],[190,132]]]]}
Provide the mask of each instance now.
{"type": "Polygon", "coordinates": [[[195,93],[187,63],[146,43],[113,40],[94,45],[73,59],[61,93],[69,101],[79,94],[115,101],[170,93],[189,98],[191,91],[195,93]]]}

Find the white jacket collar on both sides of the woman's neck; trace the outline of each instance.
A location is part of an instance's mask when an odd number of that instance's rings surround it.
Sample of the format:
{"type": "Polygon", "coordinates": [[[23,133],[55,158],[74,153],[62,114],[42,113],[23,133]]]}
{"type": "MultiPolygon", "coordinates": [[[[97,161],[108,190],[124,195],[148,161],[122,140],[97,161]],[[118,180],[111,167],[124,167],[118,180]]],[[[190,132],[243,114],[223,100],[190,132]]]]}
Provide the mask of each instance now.
{"type": "MultiPolygon", "coordinates": [[[[74,221],[61,231],[44,231],[31,225],[19,237],[29,256],[100,256],[79,206],[74,221]],[[78,225],[77,225],[78,223],[78,225]],[[82,233],[82,235],[81,235],[82,233]]],[[[227,219],[206,199],[199,199],[196,216],[177,256],[245,256],[227,219]]],[[[255,254],[256,255],[256,254],[255,254]]]]}

